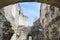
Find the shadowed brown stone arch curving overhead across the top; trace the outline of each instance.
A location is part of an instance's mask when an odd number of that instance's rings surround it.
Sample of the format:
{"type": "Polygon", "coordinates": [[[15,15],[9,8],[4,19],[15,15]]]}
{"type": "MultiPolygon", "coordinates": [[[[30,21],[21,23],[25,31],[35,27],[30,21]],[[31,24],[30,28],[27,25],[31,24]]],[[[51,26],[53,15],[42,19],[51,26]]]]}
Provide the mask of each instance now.
{"type": "Polygon", "coordinates": [[[56,7],[60,8],[59,0],[55,0],[55,1],[54,0],[5,0],[5,1],[1,0],[0,1],[0,8],[10,5],[10,4],[15,4],[18,2],[41,2],[41,3],[47,3],[52,6],[56,6],[56,7]]]}

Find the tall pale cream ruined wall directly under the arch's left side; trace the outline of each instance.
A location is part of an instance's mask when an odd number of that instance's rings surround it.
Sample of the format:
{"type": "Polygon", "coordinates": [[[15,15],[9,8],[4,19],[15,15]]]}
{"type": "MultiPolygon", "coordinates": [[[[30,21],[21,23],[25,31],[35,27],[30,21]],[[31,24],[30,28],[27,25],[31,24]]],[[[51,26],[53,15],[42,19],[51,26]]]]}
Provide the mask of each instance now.
{"type": "Polygon", "coordinates": [[[8,6],[4,7],[3,9],[5,12],[5,17],[7,18],[8,21],[11,22],[11,24],[15,30],[18,26],[18,20],[19,20],[20,9],[19,9],[18,3],[8,5],[8,6]]]}

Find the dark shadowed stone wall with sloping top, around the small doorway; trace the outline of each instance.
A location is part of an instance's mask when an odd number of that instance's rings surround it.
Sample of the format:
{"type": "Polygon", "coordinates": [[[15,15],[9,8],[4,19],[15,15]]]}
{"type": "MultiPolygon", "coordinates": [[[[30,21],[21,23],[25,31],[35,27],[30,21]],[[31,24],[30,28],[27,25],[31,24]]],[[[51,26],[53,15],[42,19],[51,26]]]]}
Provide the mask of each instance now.
{"type": "Polygon", "coordinates": [[[44,40],[44,34],[43,34],[43,27],[40,24],[40,18],[37,19],[33,26],[31,27],[31,31],[28,34],[27,40],[29,40],[29,37],[32,37],[32,40],[44,40]]]}

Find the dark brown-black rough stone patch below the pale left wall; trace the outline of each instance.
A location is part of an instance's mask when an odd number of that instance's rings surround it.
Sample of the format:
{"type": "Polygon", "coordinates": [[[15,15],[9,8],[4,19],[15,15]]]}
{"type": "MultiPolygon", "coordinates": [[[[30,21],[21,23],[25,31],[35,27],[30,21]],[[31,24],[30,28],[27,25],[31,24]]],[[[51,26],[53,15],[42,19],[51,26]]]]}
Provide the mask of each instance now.
{"type": "Polygon", "coordinates": [[[12,25],[9,21],[5,21],[3,23],[3,39],[2,40],[10,40],[14,31],[11,29],[12,25]]]}

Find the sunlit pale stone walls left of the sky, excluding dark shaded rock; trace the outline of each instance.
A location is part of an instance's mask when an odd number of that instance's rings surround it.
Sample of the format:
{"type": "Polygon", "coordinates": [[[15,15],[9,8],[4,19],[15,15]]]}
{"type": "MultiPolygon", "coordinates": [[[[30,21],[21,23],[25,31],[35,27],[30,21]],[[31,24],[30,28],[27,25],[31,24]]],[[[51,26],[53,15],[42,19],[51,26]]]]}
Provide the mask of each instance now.
{"type": "Polygon", "coordinates": [[[4,16],[11,23],[12,29],[15,32],[10,40],[20,40],[20,38],[21,39],[26,38],[26,35],[29,32],[28,17],[24,16],[21,13],[21,9],[19,8],[18,3],[6,6],[2,9],[4,11],[3,13],[4,16]],[[23,32],[25,33],[21,32],[21,30],[23,30],[23,32]],[[20,34],[20,32],[23,33],[24,35],[20,34]]]}

